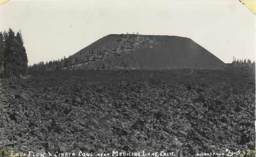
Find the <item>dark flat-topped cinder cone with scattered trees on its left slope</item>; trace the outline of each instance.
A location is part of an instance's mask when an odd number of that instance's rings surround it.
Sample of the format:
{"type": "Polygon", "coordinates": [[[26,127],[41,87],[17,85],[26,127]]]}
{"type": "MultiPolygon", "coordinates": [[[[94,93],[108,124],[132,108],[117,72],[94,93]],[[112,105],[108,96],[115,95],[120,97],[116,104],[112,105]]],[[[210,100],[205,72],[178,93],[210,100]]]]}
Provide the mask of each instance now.
{"type": "Polygon", "coordinates": [[[70,57],[68,69],[216,69],[225,63],[179,36],[111,34],[70,57]]]}

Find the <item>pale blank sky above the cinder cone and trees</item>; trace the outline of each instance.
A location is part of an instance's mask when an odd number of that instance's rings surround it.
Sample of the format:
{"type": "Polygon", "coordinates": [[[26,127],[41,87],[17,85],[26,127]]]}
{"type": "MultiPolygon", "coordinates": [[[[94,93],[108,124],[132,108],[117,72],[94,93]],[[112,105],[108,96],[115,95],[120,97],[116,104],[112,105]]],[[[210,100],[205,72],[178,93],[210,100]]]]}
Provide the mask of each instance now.
{"type": "Polygon", "coordinates": [[[15,1],[0,31],[22,31],[29,65],[75,54],[108,34],[188,37],[222,61],[255,60],[256,16],[239,1],[15,1]]]}

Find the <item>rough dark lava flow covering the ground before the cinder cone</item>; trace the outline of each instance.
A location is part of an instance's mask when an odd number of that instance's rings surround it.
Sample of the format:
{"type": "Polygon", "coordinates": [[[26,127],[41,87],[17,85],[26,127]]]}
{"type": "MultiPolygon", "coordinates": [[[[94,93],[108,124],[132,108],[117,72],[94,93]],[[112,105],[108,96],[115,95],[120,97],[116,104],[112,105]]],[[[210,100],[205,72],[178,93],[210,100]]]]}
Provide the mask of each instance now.
{"type": "MultiPolygon", "coordinates": [[[[254,70],[62,71],[1,79],[0,145],[45,156],[239,150],[254,155],[248,150],[255,148],[254,75],[254,70]]],[[[0,156],[9,156],[9,149],[0,156]]]]}

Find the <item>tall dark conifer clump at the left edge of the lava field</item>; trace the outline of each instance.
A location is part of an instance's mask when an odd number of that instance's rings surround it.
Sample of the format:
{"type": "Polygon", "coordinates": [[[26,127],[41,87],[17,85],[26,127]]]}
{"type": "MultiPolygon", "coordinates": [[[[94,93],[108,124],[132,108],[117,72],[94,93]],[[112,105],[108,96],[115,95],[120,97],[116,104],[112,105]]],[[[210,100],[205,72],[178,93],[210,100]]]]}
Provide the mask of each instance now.
{"type": "Polygon", "coordinates": [[[0,32],[0,77],[14,78],[26,74],[28,57],[22,32],[16,34],[9,28],[8,32],[0,32]]]}

